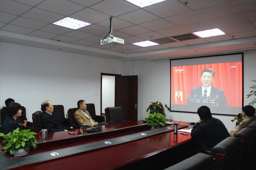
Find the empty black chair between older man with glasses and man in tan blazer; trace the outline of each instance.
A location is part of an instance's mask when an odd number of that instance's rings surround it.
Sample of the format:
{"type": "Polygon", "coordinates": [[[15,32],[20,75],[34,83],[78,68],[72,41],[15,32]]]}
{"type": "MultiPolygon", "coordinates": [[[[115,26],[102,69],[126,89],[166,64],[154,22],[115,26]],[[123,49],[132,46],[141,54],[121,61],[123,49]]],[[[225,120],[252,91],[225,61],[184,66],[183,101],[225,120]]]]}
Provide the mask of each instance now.
{"type": "Polygon", "coordinates": [[[69,130],[69,121],[68,118],[65,118],[65,111],[64,111],[64,106],[63,105],[53,105],[54,110],[52,112],[52,116],[54,119],[62,123],[62,127],[65,128],[66,130],[69,130]]]}

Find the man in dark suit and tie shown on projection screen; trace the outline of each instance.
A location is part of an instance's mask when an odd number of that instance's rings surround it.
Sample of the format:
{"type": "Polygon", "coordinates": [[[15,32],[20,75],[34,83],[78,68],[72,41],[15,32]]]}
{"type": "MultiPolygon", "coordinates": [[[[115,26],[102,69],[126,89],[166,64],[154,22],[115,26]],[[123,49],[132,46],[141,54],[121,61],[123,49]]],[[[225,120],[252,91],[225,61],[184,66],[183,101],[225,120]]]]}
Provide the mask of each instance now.
{"type": "Polygon", "coordinates": [[[194,98],[196,95],[196,99],[200,99],[202,96],[204,96],[204,100],[217,100],[218,106],[228,106],[224,91],[211,85],[212,82],[214,82],[214,76],[215,72],[212,69],[204,69],[201,73],[202,86],[193,88],[190,96],[194,98]]]}

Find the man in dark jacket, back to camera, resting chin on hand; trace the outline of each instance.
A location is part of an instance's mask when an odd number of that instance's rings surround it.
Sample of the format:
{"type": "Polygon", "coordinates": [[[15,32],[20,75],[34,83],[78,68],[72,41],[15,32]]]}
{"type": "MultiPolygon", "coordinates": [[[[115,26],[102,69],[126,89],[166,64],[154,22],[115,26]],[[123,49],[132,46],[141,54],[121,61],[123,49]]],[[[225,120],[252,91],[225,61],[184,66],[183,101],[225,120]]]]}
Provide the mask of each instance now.
{"type": "Polygon", "coordinates": [[[206,153],[230,135],[225,125],[211,116],[211,111],[207,106],[199,107],[197,114],[200,120],[194,125],[190,135],[200,140],[200,151],[206,153]]]}

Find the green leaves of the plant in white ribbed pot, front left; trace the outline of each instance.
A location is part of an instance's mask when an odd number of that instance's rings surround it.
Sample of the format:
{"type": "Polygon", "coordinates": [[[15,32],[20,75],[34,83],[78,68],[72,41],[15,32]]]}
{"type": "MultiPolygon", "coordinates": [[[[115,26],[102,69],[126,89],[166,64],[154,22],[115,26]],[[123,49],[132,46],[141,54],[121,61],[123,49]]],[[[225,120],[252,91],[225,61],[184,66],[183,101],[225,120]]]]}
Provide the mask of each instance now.
{"type": "Polygon", "coordinates": [[[24,148],[25,151],[30,151],[30,147],[36,149],[37,140],[34,135],[37,133],[29,132],[30,129],[19,131],[19,128],[13,130],[13,133],[8,133],[7,135],[0,133],[0,136],[3,137],[3,143],[6,143],[1,150],[5,152],[10,151],[10,154],[16,153],[19,149],[24,148]]]}

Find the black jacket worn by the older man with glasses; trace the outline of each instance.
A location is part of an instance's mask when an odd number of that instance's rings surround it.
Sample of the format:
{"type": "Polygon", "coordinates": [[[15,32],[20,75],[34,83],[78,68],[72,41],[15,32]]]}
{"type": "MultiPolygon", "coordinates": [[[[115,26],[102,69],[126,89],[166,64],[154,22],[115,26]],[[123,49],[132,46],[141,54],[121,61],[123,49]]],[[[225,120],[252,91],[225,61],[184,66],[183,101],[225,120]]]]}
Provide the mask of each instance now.
{"type": "Polygon", "coordinates": [[[48,133],[51,132],[61,132],[65,129],[62,127],[62,123],[57,122],[54,117],[46,112],[42,113],[41,117],[42,126],[44,129],[48,130],[48,133]]]}

